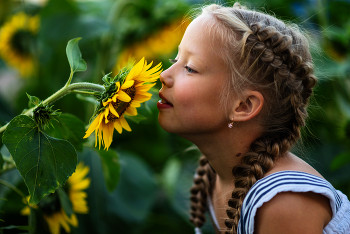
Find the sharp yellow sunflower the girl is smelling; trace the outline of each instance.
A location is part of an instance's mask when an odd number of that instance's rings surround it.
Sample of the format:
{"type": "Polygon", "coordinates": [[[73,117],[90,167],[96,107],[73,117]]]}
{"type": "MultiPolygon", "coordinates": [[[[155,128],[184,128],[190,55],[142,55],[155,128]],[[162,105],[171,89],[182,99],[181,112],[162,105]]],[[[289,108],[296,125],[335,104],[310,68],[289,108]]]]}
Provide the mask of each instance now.
{"type": "Polygon", "coordinates": [[[161,73],[161,63],[150,69],[151,66],[152,62],[147,64],[142,58],[132,69],[119,72],[111,84],[108,79],[104,79],[108,84],[105,84],[107,90],[102,94],[100,106],[97,108],[99,113],[84,136],[87,138],[95,131],[95,147],[98,137],[99,148],[102,142],[108,150],[113,140],[114,129],[118,133],[122,133],[123,129],[131,131],[124,115],[137,115],[136,108],[151,99],[152,94],[148,91],[155,85],[161,73]]]}

